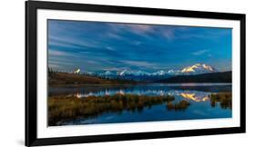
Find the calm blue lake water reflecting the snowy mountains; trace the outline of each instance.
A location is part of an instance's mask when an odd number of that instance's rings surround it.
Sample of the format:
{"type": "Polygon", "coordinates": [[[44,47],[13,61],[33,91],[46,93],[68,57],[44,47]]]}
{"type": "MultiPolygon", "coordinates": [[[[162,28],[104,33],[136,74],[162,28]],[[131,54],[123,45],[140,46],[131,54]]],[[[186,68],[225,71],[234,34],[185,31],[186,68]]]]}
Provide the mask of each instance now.
{"type": "Polygon", "coordinates": [[[230,118],[230,108],[221,107],[220,103],[212,105],[211,93],[231,92],[230,83],[187,83],[164,84],[150,83],[139,85],[90,85],[84,87],[49,87],[49,96],[76,95],[77,98],[87,98],[90,95],[104,94],[140,94],[140,95],[174,95],[175,101],[186,100],[190,103],[188,109],[183,111],[168,110],[166,103],[145,107],[139,111],[122,111],[121,113],[102,113],[95,117],[78,118],[60,125],[111,123],[111,122],[148,122],[171,121],[189,119],[230,118]]]}

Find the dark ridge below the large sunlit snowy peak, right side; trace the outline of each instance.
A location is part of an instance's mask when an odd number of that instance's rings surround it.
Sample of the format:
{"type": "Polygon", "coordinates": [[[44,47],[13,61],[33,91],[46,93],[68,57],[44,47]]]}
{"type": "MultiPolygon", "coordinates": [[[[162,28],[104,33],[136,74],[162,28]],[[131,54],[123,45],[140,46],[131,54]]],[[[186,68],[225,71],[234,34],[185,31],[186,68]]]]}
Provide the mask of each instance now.
{"type": "Polygon", "coordinates": [[[232,73],[201,73],[196,75],[177,75],[156,81],[157,83],[231,83],[232,73]]]}

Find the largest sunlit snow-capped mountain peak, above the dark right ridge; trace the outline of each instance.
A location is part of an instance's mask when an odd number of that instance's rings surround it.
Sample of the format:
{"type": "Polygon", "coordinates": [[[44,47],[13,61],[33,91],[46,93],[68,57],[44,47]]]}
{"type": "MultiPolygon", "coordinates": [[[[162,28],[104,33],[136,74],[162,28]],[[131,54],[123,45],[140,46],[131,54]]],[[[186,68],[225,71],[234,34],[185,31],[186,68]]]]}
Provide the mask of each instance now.
{"type": "Polygon", "coordinates": [[[214,73],[217,72],[215,68],[208,64],[194,64],[183,68],[180,73],[183,74],[198,74],[198,73],[214,73]]]}

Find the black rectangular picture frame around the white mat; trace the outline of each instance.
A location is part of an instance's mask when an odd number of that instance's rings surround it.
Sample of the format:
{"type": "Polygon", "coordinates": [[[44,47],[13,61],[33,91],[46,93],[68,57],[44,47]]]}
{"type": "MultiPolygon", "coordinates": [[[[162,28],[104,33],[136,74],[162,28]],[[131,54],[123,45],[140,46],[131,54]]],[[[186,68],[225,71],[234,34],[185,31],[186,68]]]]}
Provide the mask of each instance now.
{"type": "Polygon", "coordinates": [[[157,8],[142,8],[128,6],[112,6],[112,5],[86,5],[56,2],[26,2],[26,146],[37,145],[54,145],[67,143],[84,143],[84,142],[113,142],[127,140],[142,140],[155,138],[169,138],[182,136],[199,136],[224,133],[245,132],[246,126],[245,115],[245,15],[228,14],[228,13],[212,13],[185,10],[169,10],[157,8]],[[36,12],[37,9],[54,9],[69,11],[87,11],[87,12],[103,12],[118,14],[134,14],[134,15],[164,15],[164,16],[180,16],[193,18],[212,18],[223,20],[237,20],[241,25],[241,126],[217,129],[200,129],[200,130],[184,130],[184,131],[164,131],[164,132],[138,132],[138,133],[122,133],[107,135],[92,135],[78,137],[59,137],[59,138],[37,138],[36,125],[36,12]]]}

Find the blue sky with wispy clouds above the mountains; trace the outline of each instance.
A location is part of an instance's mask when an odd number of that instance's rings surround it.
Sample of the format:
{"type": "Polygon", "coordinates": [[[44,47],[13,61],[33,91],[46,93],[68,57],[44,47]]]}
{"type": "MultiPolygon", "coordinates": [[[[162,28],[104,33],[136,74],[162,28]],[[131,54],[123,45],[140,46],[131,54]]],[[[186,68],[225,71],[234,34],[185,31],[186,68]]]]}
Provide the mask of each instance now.
{"type": "Polygon", "coordinates": [[[231,29],[48,20],[48,65],[70,72],[231,70],[231,29]]]}

